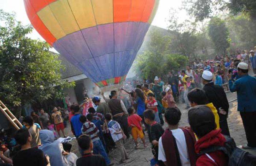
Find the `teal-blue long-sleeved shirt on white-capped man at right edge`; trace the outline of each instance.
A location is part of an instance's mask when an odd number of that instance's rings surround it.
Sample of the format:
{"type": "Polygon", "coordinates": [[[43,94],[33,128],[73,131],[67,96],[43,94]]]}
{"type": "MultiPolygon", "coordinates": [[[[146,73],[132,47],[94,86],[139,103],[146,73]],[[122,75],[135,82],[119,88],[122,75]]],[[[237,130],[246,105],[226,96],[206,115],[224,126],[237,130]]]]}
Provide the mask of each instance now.
{"type": "Polygon", "coordinates": [[[241,76],[234,83],[229,80],[231,92],[237,92],[238,111],[256,111],[256,78],[248,75],[241,76]]]}

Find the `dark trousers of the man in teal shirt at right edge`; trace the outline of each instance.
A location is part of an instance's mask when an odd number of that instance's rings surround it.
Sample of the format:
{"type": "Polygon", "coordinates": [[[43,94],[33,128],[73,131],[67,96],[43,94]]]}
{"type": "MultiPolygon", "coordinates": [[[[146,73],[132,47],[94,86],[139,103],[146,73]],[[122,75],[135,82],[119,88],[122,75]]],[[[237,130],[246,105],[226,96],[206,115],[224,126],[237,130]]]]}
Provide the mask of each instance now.
{"type": "Polygon", "coordinates": [[[240,112],[249,147],[256,147],[256,112],[240,112]]]}

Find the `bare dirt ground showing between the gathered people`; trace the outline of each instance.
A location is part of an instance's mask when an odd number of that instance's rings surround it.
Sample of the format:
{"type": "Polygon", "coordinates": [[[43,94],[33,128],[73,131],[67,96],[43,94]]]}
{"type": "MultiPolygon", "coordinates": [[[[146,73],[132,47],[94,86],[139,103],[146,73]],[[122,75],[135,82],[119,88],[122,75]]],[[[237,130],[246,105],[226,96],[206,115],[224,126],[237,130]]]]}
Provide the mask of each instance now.
{"type": "MultiPolygon", "coordinates": [[[[227,98],[229,101],[236,99],[237,95],[236,93],[227,93],[227,98]]],[[[178,104],[178,108],[180,108],[182,112],[180,126],[188,126],[188,110],[185,109],[185,104],[178,104]]],[[[239,112],[237,111],[237,101],[234,101],[230,103],[230,109],[229,109],[229,117],[228,117],[228,125],[229,125],[229,131],[231,134],[231,137],[234,138],[237,145],[246,144],[246,137],[245,137],[245,131],[242,124],[242,120],[240,117],[239,112]]],[[[163,126],[163,128],[167,128],[167,125],[163,126]]],[[[70,130],[70,126],[65,129],[66,133],[74,137],[70,130]]],[[[110,151],[108,154],[111,161],[113,163],[116,163],[116,166],[148,166],[150,165],[150,160],[153,158],[153,155],[151,153],[151,145],[148,140],[148,136],[146,136],[146,141],[148,144],[147,148],[143,147],[142,142],[140,142],[140,148],[135,149],[135,144],[133,143],[132,137],[125,141],[124,146],[130,155],[130,159],[127,160],[127,163],[125,164],[117,164],[118,161],[120,161],[121,156],[120,153],[117,151],[117,149],[114,149],[110,151]]],[[[78,145],[76,140],[72,140],[72,152],[77,154],[80,157],[79,151],[78,151],[78,145]]]]}

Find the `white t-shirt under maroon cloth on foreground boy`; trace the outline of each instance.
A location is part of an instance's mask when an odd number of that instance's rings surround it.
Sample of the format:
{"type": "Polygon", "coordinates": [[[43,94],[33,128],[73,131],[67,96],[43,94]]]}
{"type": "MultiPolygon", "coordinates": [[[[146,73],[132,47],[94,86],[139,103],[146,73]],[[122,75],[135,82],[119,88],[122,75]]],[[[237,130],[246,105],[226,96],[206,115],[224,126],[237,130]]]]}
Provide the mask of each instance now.
{"type": "MultiPolygon", "coordinates": [[[[184,132],[180,128],[171,130],[171,131],[174,138],[176,139],[178,152],[180,154],[181,165],[190,166],[188,151],[187,151],[187,143],[186,143],[184,132]]],[[[163,162],[166,161],[165,150],[163,149],[162,137],[160,137],[158,141],[158,160],[161,160],[163,162]]]]}

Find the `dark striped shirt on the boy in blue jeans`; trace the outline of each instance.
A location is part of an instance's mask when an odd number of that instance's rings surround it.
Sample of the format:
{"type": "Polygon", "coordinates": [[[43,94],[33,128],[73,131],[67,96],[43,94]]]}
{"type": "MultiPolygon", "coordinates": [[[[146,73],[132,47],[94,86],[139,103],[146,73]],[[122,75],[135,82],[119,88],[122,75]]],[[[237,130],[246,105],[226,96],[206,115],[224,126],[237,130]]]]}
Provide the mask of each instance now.
{"type": "Polygon", "coordinates": [[[83,134],[90,135],[91,140],[93,142],[99,140],[99,136],[98,136],[99,130],[94,123],[91,123],[91,122],[84,123],[81,130],[83,134]]]}

